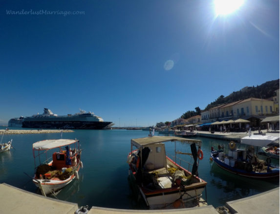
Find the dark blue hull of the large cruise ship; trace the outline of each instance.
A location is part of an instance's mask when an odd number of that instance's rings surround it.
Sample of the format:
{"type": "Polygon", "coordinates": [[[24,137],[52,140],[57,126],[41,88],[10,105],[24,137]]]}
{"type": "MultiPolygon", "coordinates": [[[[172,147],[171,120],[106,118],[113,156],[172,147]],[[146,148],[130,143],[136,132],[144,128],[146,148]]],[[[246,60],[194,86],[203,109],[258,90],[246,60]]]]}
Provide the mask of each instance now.
{"type": "Polygon", "coordinates": [[[23,121],[22,128],[102,129],[111,122],[98,121],[23,121]]]}

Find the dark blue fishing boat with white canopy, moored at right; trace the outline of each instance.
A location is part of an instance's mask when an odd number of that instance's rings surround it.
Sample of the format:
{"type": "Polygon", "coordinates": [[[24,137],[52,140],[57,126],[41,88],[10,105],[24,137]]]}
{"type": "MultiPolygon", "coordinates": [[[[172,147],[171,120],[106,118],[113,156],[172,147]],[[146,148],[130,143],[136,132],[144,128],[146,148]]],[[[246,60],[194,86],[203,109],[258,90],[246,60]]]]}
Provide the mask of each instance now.
{"type": "MultiPolygon", "coordinates": [[[[229,150],[226,153],[223,149],[215,151],[212,148],[211,160],[223,170],[255,179],[279,178],[279,167],[271,165],[271,159],[258,159],[255,154],[255,147],[267,145],[268,142],[275,141],[279,137],[251,135],[241,138],[240,143],[250,145],[246,150],[237,149],[234,141],[229,143],[229,150]]],[[[223,147],[222,147],[223,148],[223,147]]],[[[256,152],[258,154],[258,152],[256,152]]]]}

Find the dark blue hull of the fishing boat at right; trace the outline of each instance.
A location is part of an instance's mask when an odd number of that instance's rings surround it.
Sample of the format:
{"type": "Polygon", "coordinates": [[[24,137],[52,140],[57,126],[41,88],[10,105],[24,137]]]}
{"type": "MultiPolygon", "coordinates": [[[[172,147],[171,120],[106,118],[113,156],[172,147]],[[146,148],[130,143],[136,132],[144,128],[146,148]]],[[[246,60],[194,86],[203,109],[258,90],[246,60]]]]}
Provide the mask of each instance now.
{"type": "Polygon", "coordinates": [[[225,171],[229,171],[233,174],[237,174],[243,177],[254,178],[254,179],[279,178],[279,169],[272,170],[270,172],[265,172],[265,173],[255,172],[255,171],[245,171],[225,164],[224,162],[220,161],[218,157],[214,157],[213,154],[211,154],[211,157],[213,158],[215,164],[218,167],[222,168],[225,171]]]}

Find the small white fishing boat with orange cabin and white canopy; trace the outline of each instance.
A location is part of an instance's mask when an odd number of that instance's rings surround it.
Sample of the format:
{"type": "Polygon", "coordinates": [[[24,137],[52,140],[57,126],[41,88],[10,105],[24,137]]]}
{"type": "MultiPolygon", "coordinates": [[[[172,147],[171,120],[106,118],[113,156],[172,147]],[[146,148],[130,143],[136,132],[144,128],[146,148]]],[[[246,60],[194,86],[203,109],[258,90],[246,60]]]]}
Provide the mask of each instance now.
{"type": "Polygon", "coordinates": [[[69,139],[43,140],[33,144],[33,157],[35,164],[35,175],[33,183],[39,187],[42,195],[57,194],[74,178],[79,179],[81,161],[79,141],[69,139]],[[56,151],[54,151],[56,150],[56,151]],[[51,152],[51,157],[47,152],[51,152]],[[42,157],[45,161],[42,161],[42,157]],[[50,162],[49,159],[52,159],[50,162]],[[39,166],[36,164],[39,161],[39,166]]]}

